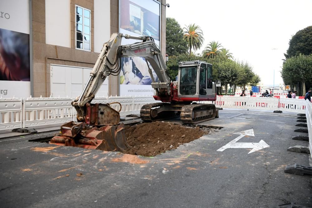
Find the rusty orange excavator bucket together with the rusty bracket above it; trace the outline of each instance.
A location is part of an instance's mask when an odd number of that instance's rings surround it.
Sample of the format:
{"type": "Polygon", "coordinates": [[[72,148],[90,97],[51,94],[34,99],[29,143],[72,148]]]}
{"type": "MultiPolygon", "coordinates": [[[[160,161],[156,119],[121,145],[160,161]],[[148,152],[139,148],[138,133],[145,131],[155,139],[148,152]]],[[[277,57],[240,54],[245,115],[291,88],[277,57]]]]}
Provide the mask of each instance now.
{"type": "Polygon", "coordinates": [[[98,149],[104,151],[125,152],[130,148],[125,138],[124,124],[119,123],[119,112],[106,104],[90,104],[89,114],[86,115],[87,122],[68,122],[61,126],[61,135],[50,140],[51,144],[61,146],[80,147],[85,149],[98,149]],[[100,109],[100,111],[98,110],[100,109]],[[104,112],[103,112],[104,111],[104,112]],[[116,114],[117,113],[117,114],[116,114]],[[90,118],[96,123],[107,123],[107,115],[111,117],[111,123],[105,126],[90,125],[90,118]],[[117,123],[117,124],[116,124],[117,123]],[[115,124],[115,125],[114,125],[115,124]]]}

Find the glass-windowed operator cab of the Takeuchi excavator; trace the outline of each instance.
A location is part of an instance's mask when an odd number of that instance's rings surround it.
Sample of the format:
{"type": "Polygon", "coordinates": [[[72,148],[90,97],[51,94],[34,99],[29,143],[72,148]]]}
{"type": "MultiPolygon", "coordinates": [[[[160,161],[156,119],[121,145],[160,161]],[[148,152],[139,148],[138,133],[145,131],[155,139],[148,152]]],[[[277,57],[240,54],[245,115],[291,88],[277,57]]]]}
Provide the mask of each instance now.
{"type": "Polygon", "coordinates": [[[212,64],[196,61],[179,62],[178,97],[215,98],[216,85],[212,82],[212,64]]]}

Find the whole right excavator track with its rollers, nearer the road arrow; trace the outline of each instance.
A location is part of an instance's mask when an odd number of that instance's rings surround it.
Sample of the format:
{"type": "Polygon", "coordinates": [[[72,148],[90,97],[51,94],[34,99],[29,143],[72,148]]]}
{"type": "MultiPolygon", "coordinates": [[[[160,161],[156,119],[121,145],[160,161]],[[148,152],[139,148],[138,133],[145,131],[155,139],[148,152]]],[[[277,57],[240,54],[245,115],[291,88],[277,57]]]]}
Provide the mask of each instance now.
{"type": "Polygon", "coordinates": [[[190,104],[181,109],[181,121],[185,124],[196,124],[218,117],[214,104],[190,104]]]}

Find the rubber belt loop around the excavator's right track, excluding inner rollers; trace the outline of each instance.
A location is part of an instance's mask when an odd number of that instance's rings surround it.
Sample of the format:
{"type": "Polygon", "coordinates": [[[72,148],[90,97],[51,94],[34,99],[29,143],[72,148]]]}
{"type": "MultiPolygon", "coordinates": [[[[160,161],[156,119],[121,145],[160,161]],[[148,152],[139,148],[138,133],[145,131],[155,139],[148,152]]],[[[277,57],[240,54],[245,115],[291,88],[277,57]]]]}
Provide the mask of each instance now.
{"type": "Polygon", "coordinates": [[[214,104],[190,104],[185,105],[181,109],[181,121],[185,124],[196,124],[204,121],[212,120],[216,117],[216,106],[214,104]],[[207,116],[201,116],[198,118],[192,119],[192,112],[197,108],[208,108],[209,110],[212,108],[213,114],[207,116]]]}

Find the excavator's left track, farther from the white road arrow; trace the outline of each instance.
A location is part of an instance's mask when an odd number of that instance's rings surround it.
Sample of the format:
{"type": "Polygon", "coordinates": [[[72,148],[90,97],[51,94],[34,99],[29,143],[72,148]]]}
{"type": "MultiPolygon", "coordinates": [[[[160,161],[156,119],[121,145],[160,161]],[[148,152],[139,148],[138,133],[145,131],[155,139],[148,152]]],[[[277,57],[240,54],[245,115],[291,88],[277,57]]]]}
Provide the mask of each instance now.
{"type": "Polygon", "coordinates": [[[166,112],[162,112],[158,114],[154,118],[151,117],[151,110],[153,108],[166,106],[166,105],[171,105],[171,104],[170,103],[150,103],[150,104],[143,105],[140,110],[140,116],[141,116],[142,121],[145,121],[145,122],[161,121],[161,120],[172,119],[172,118],[176,118],[180,116],[179,112],[175,113],[174,111],[166,111],[166,112]]]}

